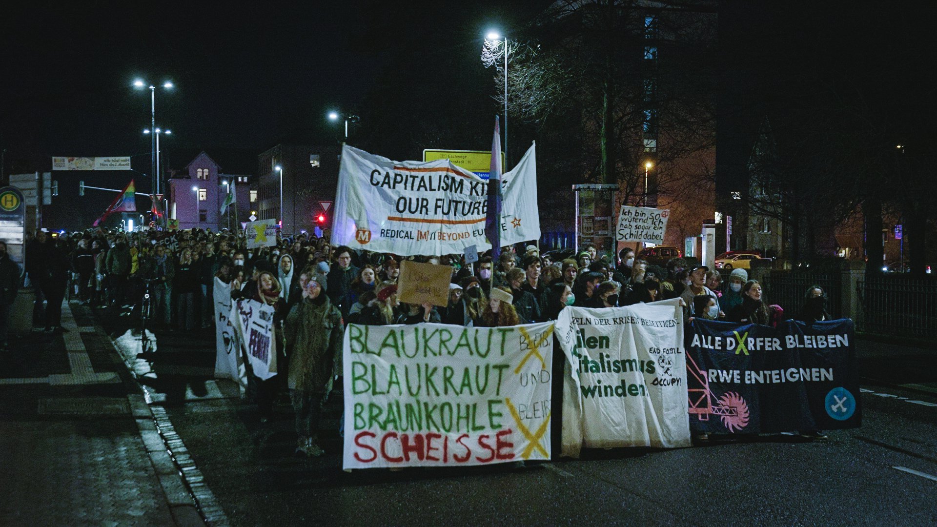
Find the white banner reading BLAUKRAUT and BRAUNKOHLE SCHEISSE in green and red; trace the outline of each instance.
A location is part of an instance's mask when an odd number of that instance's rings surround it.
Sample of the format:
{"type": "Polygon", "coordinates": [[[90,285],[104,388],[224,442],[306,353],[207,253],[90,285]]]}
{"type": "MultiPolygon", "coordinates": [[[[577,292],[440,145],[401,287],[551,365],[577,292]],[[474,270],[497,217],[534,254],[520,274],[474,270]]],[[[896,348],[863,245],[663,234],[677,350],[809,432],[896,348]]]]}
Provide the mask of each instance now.
{"type": "Polygon", "coordinates": [[[344,468],[550,459],[552,359],[552,323],[350,324],[344,468]]]}

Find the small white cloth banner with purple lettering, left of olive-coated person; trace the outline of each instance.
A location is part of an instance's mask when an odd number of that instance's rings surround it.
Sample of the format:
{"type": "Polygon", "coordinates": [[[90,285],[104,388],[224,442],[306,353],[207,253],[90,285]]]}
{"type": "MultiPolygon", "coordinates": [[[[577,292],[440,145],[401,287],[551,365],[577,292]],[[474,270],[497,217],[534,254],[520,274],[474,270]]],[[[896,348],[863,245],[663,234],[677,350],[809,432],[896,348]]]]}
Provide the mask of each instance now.
{"type": "Polygon", "coordinates": [[[276,375],[274,307],[242,299],[234,302],[230,318],[240,354],[247,357],[254,375],[261,381],[276,375]]]}

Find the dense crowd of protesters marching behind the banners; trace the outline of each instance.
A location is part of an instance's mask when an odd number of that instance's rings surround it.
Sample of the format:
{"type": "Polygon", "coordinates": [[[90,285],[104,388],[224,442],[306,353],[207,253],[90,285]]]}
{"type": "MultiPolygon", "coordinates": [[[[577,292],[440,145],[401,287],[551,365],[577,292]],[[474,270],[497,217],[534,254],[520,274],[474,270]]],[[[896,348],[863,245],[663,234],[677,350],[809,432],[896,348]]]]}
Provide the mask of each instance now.
{"type": "MultiPolygon", "coordinates": [[[[4,342],[8,306],[17,290],[10,277],[18,273],[5,248],[0,243],[4,342]]],[[[264,382],[252,378],[249,395],[266,421],[277,392],[289,390],[297,452],[308,456],[322,453],[317,423],[340,372],[342,333],[350,323],[506,326],[556,320],[567,306],[614,308],[675,298],[682,300],[688,321],[778,324],[783,319],[781,308],[768,303],[761,284],[745,269],[733,270],[723,281],[717,271],[684,258],[650,265],[636,259],[632,248],[622,249],[614,264],[593,246],[557,262],[532,245],[504,248],[497,261],[483,255],[474,264],[465,264],[462,255],[408,259],[452,267],[446,306],[400,302],[402,257],[335,248],[305,233],[278,233],[273,247],[246,248],[243,233],[227,231],[38,232],[26,246],[25,276],[37,295],[34,321],[52,333],[64,331],[66,293],[92,308],[120,311],[139,305],[148,290],[153,323],[166,331],[211,327],[216,287],[234,299],[273,306],[277,371],[284,374],[264,382]]],[[[811,286],[799,316],[829,320],[822,288],[811,286]]]]}

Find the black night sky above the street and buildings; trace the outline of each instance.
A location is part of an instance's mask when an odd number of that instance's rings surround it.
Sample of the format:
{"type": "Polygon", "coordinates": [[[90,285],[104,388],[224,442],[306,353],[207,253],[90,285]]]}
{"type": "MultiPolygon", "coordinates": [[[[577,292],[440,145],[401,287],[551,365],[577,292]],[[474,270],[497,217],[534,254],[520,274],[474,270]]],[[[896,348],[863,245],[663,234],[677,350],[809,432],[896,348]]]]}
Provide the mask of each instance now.
{"type": "MultiPolygon", "coordinates": [[[[5,173],[48,170],[52,155],[131,155],[136,170],[148,171],[141,130],[150,106],[148,90],[131,87],[138,77],[176,84],[156,99],[157,126],[173,131],[162,145],[170,157],[175,148],[334,141],[338,127],[325,113],[358,111],[369,96],[373,104],[380,77],[400,69],[413,83],[427,83],[421,75],[478,83],[469,102],[480,117],[467,126],[490,137],[497,87],[478,59],[483,34],[520,32],[548,3],[5,8],[5,173]]],[[[920,4],[723,3],[720,119],[731,124],[721,126],[723,168],[728,162],[737,175],[762,115],[825,97],[827,88],[867,103],[896,138],[930,137],[935,13],[920,4]]],[[[446,93],[440,82],[438,97],[446,93]]],[[[409,112],[431,123],[433,102],[409,112]]]]}

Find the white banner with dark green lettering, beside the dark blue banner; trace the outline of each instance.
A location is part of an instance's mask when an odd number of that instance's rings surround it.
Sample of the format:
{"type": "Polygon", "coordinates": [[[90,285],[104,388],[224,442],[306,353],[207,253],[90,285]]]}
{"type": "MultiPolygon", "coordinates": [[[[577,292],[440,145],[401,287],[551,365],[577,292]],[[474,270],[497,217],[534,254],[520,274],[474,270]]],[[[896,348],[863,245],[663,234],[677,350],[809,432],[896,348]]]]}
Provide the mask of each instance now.
{"type": "Polygon", "coordinates": [[[690,446],[679,300],[626,308],[566,308],[557,339],[564,456],[582,446],[690,446]]]}

